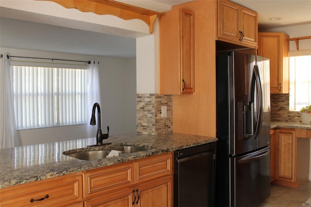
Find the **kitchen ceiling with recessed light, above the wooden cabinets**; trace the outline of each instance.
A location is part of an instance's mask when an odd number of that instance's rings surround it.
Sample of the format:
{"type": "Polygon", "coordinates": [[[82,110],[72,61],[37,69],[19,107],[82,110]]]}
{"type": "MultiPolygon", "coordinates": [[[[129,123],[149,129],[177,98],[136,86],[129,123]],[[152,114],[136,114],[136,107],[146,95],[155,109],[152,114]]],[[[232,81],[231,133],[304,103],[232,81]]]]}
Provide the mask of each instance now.
{"type": "MultiPolygon", "coordinates": [[[[117,0],[156,12],[192,0],[117,0]],[[160,6],[162,4],[162,6],[160,6]]],[[[259,31],[311,23],[311,0],[231,0],[258,13],[259,31]],[[271,21],[271,17],[280,20],[271,21]]]]}

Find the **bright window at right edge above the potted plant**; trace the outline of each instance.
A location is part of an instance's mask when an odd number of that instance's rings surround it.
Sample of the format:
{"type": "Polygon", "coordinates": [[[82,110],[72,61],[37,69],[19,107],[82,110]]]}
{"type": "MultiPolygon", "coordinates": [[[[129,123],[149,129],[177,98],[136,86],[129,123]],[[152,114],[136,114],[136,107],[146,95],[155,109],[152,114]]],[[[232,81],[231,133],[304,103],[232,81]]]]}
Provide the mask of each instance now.
{"type": "Polygon", "coordinates": [[[311,104],[311,51],[290,52],[290,110],[311,104]]]}

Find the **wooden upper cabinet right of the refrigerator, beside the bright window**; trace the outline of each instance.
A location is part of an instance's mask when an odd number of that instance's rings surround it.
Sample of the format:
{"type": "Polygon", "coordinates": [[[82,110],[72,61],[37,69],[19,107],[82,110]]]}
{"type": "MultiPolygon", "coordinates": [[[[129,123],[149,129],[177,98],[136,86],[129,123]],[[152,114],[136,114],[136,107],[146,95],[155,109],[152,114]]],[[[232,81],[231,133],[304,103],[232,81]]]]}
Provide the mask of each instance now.
{"type": "Polygon", "coordinates": [[[259,33],[258,55],[270,59],[270,93],[289,93],[289,36],[259,33]]]}

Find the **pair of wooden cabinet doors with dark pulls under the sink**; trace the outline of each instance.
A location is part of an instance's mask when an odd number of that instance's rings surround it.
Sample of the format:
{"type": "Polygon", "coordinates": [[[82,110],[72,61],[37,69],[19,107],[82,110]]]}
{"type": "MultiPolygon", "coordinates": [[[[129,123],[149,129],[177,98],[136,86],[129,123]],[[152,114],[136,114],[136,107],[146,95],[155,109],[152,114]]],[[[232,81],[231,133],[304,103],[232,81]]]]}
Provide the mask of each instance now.
{"type": "Polygon", "coordinates": [[[85,202],[85,207],[172,207],[173,176],[85,202]]]}

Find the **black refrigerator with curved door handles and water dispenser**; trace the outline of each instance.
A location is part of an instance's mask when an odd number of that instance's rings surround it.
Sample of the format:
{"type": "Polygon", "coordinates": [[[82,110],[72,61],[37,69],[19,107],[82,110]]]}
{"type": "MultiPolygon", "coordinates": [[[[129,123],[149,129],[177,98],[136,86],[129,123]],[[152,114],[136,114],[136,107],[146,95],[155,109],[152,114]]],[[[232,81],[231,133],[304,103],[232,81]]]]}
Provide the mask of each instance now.
{"type": "Polygon", "coordinates": [[[270,195],[269,59],[216,58],[216,206],[255,207],[270,195]]]}

